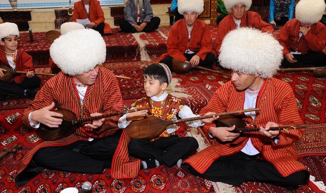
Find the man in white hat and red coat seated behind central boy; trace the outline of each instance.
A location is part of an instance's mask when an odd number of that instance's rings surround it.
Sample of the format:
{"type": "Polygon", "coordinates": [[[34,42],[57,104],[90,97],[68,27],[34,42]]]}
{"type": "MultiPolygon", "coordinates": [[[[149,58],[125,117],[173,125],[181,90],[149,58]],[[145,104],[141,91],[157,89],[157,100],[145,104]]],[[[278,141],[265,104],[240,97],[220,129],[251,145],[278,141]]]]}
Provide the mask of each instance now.
{"type": "Polygon", "coordinates": [[[212,51],[212,38],[207,24],[197,19],[204,11],[203,0],[179,0],[178,11],[183,14],[171,27],[167,49],[159,57],[159,62],[165,63],[172,70],[172,59],[191,63],[194,66],[211,68],[215,60],[212,51]]]}

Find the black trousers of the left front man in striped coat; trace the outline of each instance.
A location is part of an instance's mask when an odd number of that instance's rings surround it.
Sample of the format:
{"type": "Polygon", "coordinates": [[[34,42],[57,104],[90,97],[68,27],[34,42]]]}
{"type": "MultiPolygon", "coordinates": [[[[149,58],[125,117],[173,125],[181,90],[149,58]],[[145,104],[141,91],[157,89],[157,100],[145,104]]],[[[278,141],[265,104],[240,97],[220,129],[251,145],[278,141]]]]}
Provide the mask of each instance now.
{"type": "Polygon", "coordinates": [[[122,131],[93,141],[77,141],[67,146],[38,150],[33,161],[37,166],[74,173],[101,174],[111,168],[112,158],[122,131]]]}

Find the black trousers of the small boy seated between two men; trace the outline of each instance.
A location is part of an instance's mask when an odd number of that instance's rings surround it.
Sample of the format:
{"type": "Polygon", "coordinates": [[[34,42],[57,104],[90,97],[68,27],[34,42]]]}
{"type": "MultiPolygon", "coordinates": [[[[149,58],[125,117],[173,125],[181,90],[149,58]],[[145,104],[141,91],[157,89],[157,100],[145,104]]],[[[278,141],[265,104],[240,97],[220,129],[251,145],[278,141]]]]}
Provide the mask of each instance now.
{"type": "Polygon", "coordinates": [[[160,163],[172,167],[180,158],[198,148],[198,142],[193,137],[161,137],[156,141],[131,139],[128,145],[129,154],[140,159],[155,158],[160,163]]]}

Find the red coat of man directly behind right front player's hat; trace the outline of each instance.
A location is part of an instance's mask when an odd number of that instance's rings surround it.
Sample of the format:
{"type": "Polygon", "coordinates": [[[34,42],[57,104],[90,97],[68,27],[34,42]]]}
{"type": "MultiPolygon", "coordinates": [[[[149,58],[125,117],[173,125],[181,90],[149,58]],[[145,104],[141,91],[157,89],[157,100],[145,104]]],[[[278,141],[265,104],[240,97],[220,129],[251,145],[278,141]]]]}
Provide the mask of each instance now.
{"type": "MultiPolygon", "coordinates": [[[[241,18],[240,27],[253,27],[256,29],[260,29],[263,32],[269,33],[272,33],[274,30],[273,26],[263,21],[258,13],[252,11],[249,11],[248,26],[247,13],[244,13],[241,18]]],[[[229,33],[229,31],[233,29],[236,29],[236,24],[232,14],[229,14],[224,19],[222,19],[218,26],[218,33],[216,35],[214,43],[214,50],[218,55],[220,55],[220,48],[224,37],[229,33]]]]}

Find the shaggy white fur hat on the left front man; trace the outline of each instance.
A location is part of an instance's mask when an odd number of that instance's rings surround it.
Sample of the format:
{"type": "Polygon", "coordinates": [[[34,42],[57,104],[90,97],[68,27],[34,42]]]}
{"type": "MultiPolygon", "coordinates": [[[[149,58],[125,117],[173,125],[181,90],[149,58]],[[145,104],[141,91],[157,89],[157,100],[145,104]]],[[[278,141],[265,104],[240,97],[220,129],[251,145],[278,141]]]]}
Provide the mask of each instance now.
{"type": "Polygon", "coordinates": [[[106,45],[97,31],[76,29],[52,43],[50,56],[65,74],[81,75],[105,61],[106,45]]]}

